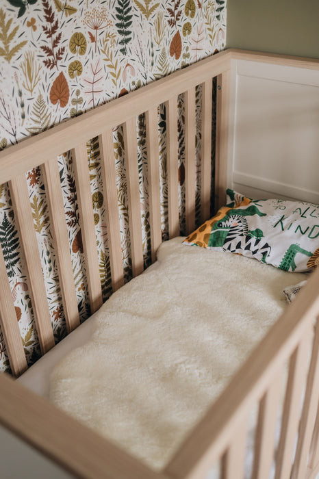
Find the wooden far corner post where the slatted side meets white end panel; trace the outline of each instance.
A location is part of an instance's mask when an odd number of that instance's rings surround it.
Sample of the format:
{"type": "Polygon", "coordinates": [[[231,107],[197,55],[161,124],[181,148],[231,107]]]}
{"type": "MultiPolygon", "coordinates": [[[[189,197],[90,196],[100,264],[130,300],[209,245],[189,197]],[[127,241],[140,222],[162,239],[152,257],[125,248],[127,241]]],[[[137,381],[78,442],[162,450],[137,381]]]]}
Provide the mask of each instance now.
{"type": "MultiPolygon", "coordinates": [[[[216,97],[216,158],[215,158],[215,207],[225,205],[227,188],[227,152],[229,128],[230,70],[217,77],[216,97]]],[[[216,208],[217,209],[217,208],[216,208]]]]}

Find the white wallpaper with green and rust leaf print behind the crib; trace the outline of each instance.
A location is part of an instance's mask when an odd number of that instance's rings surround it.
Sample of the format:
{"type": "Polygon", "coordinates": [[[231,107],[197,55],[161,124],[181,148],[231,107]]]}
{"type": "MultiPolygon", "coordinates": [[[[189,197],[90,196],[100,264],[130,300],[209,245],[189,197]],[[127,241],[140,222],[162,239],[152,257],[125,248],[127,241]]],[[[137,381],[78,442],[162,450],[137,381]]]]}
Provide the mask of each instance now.
{"type": "MultiPolygon", "coordinates": [[[[0,150],[88,109],[168,75],[225,47],[226,0],[0,0],[0,150]]],[[[200,99],[200,89],[197,91],[200,99]]],[[[179,99],[183,135],[183,97],[179,99]]],[[[149,263],[148,191],[144,117],[137,119],[141,222],[149,263]]],[[[163,236],[166,231],[165,108],[159,108],[163,236]]],[[[200,133],[198,144],[200,142],[200,133]]],[[[180,194],[183,146],[180,138],[180,194]]],[[[103,297],[110,295],[110,262],[99,141],[87,143],[92,207],[103,297]]],[[[90,314],[79,211],[70,152],[58,158],[79,314],[90,314]]],[[[123,266],[129,279],[130,246],[123,132],[114,130],[123,266]]],[[[27,172],[55,340],[66,334],[50,220],[40,168],[27,172]]],[[[0,179],[1,183],[1,179],[0,179]]],[[[183,207],[181,206],[181,228],[183,207]]],[[[0,241],[29,364],[40,356],[32,300],[7,184],[0,186],[0,241]]],[[[0,370],[9,370],[0,331],[0,370]]]]}

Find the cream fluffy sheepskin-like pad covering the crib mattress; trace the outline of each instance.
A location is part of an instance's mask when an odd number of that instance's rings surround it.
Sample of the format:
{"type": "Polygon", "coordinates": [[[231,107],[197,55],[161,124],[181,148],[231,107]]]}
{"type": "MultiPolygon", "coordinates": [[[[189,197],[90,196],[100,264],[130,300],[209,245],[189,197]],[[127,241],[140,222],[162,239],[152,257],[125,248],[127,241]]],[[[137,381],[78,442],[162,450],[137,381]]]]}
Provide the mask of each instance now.
{"type": "Polygon", "coordinates": [[[279,318],[283,289],[305,279],[181,241],[112,295],[51,376],[57,406],[155,469],[279,318]]]}

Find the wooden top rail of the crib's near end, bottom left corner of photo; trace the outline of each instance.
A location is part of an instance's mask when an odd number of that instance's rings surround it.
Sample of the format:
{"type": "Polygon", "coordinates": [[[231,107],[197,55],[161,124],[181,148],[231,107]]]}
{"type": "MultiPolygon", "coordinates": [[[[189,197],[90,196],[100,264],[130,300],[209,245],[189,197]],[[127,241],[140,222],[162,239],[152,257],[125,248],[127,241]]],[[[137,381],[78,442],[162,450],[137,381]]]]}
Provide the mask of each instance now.
{"type": "Polygon", "coordinates": [[[75,477],[164,479],[5,374],[0,389],[0,424],[75,477]]]}

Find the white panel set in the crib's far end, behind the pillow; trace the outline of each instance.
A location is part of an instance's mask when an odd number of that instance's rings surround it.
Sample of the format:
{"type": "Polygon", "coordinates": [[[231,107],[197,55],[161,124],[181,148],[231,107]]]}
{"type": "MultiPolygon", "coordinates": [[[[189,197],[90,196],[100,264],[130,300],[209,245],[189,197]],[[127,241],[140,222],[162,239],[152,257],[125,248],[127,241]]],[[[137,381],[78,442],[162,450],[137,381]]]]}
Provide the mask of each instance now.
{"type": "Polygon", "coordinates": [[[234,66],[233,187],[319,203],[319,72],[234,66]]]}

